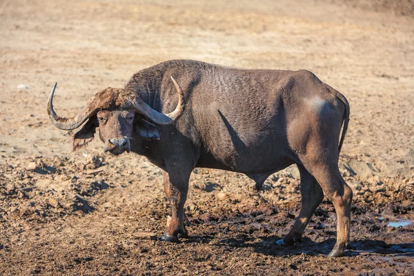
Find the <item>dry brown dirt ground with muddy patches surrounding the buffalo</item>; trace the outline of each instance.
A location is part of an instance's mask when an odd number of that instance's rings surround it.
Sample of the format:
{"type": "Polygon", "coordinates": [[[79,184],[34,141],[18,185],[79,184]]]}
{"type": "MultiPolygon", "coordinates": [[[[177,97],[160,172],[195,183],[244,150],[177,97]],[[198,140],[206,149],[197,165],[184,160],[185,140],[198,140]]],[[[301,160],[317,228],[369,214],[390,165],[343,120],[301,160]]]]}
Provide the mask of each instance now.
{"type": "Polygon", "coordinates": [[[355,2],[0,1],[0,275],[413,275],[414,19],[355,2]],[[196,169],[190,238],[158,242],[160,170],[104,155],[97,140],[71,152],[70,132],[49,123],[53,83],[57,112],[72,116],[168,59],[308,69],[346,95],[346,257],[326,257],[336,224],[327,200],[302,242],[275,244],[300,206],[295,167],[260,196],[244,175],[196,169]]]}

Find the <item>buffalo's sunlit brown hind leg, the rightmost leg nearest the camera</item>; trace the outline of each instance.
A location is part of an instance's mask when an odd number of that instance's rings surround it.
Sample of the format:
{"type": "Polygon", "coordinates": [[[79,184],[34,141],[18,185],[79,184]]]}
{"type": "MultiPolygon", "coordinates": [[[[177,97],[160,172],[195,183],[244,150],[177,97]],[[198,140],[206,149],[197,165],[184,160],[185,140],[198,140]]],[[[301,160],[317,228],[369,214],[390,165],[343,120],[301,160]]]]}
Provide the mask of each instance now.
{"type": "Polygon", "coordinates": [[[342,178],[337,163],[313,164],[309,171],[332,201],[337,215],[337,241],[329,257],[340,257],[349,243],[351,225],[351,202],[353,193],[342,178]]]}

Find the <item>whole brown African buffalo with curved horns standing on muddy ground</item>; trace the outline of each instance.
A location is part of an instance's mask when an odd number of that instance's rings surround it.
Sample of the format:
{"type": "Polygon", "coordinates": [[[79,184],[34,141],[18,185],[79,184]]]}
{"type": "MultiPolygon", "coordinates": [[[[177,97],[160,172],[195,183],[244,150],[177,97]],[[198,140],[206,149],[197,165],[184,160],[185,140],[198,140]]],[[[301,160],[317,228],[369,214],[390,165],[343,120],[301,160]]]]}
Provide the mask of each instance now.
{"type": "Polygon", "coordinates": [[[55,88],[48,99],[52,124],[72,130],[86,121],[73,135],[74,150],[86,146],[99,128],[105,151],[136,152],[161,168],[172,206],[161,240],[187,236],[184,204],[194,168],[242,172],[260,188],[274,172],[297,164],[302,208],[278,244],[302,237],[326,195],[337,214],[337,242],[329,255],[344,254],[353,193],[339,172],[338,157],[349,105],[313,73],[166,61],[137,72],[125,88],[97,92],[72,118],[53,110],[55,88]]]}

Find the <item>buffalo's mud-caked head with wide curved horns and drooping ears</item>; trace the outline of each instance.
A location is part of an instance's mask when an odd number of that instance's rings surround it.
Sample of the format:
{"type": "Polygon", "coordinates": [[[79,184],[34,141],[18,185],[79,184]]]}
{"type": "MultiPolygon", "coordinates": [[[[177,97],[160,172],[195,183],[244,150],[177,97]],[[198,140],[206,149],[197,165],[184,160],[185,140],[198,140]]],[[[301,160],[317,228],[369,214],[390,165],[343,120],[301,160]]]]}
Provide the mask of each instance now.
{"type": "Polygon", "coordinates": [[[48,99],[48,115],[54,126],[62,130],[73,130],[86,121],[81,130],[73,135],[73,150],[86,146],[99,128],[99,137],[105,144],[104,152],[119,155],[130,151],[133,137],[159,139],[157,125],[172,124],[184,110],[184,95],[175,79],[172,82],[178,92],[178,104],[168,114],[158,112],[145,103],[133,90],[106,88],[97,92],[86,103],[85,108],[72,118],[59,117],[53,110],[53,86],[48,99]],[[152,124],[152,123],[153,124],[152,124]]]}

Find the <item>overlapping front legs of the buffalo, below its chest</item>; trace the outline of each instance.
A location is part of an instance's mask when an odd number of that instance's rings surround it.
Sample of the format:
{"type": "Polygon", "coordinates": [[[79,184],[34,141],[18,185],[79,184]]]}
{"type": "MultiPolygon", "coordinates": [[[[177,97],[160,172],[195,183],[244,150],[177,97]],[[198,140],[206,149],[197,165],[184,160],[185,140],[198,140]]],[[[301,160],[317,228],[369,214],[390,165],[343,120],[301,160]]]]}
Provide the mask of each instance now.
{"type": "Polygon", "coordinates": [[[188,233],[184,223],[189,221],[184,213],[184,204],[188,193],[188,176],[182,172],[166,172],[162,171],[164,179],[164,190],[168,201],[171,204],[171,217],[167,221],[167,230],[164,235],[159,237],[160,240],[166,242],[178,242],[180,237],[187,237],[188,233]]]}

